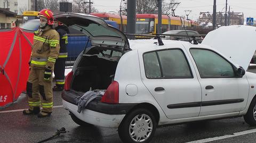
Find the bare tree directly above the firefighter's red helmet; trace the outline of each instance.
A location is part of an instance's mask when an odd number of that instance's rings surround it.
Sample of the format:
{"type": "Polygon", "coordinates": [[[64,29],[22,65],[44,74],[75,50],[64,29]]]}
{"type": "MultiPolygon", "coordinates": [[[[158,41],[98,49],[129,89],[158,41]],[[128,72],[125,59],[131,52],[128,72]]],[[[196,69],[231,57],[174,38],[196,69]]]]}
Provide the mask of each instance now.
{"type": "Polygon", "coordinates": [[[38,0],[38,10],[50,9],[53,13],[60,12],[59,0],[38,0]]]}

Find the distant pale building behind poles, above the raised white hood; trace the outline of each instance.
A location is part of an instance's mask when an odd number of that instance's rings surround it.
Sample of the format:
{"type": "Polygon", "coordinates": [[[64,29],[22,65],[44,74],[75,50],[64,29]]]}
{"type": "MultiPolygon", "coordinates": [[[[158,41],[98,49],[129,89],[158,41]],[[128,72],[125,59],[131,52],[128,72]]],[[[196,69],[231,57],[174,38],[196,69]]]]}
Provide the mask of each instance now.
{"type": "MultiPolygon", "coordinates": [[[[200,23],[212,23],[213,14],[210,12],[200,12],[198,21],[200,23]]],[[[216,26],[225,26],[225,12],[216,13],[216,26]]],[[[244,13],[243,12],[230,12],[227,13],[227,25],[243,25],[244,13]]]]}

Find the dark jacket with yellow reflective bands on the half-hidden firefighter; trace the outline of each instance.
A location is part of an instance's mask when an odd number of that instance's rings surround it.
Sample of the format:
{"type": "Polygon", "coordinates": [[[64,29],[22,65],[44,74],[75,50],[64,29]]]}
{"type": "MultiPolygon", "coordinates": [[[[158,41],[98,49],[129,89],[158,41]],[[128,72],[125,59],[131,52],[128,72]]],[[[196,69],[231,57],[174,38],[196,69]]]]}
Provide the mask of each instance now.
{"type": "Polygon", "coordinates": [[[60,36],[60,54],[58,58],[67,58],[67,45],[68,45],[68,35],[64,26],[58,26],[55,30],[59,33],[60,36]]]}

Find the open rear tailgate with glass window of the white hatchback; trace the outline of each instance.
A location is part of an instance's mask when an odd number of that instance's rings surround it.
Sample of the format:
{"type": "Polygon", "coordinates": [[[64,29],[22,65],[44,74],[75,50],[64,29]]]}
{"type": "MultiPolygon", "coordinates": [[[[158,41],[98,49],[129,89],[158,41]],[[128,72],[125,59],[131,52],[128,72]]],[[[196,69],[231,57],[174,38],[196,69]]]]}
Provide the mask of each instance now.
{"type": "Polygon", "coordinates": [[[94,46],[130,49],[128,39],[124,33],[109,26],[105,20],[97,16],[67,12],[55,14],[54,18],[66,26],[90,36],[91,44],[94,46]]]}

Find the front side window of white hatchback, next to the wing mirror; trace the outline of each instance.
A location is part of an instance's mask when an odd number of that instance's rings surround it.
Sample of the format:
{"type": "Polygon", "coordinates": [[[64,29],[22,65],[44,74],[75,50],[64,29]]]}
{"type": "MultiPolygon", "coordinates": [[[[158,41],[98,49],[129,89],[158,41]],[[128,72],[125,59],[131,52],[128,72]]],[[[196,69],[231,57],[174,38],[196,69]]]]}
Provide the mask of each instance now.
{"type": "Polygon", "coordinates": [[[190,49],[201,78],[234,77],[233,66],[217,53],[206,49],[190,49]]]}

